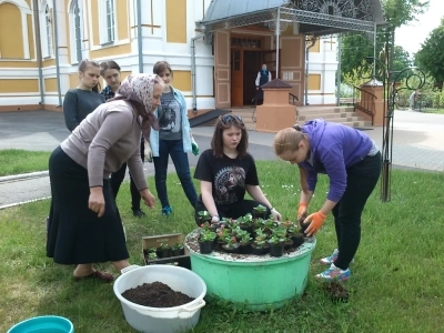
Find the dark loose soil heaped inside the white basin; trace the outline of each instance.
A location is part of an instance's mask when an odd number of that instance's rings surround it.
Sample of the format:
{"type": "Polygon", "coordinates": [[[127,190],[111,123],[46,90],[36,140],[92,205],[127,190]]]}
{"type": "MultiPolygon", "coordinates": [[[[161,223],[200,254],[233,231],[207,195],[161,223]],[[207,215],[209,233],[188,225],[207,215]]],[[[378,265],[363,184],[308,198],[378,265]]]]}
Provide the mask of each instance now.
{"type": "Polygon", "coordinates": [[[173,307],[195,300],[173,291],[162,282],[143,283],[124,291],[122,296],[132,303],[150,307],[173,307]]]}

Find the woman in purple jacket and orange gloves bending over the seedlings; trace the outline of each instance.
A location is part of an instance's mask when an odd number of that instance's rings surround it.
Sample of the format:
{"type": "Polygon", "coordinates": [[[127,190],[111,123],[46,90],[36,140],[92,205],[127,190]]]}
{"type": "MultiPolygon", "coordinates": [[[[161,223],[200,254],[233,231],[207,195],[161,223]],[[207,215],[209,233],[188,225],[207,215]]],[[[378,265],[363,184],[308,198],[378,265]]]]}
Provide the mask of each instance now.
{"type": "Polygon", "coordinates": [[[362,211],[381,173],[380,149],[364,132],[316,119],[280,131],[274,138],[274,152],[300,168],[302,192],[297,220],[310,222],[306,235],[314,235],[329,213],[333,213],[337,249],[321,259],[330,269],[316,278],[347,280],[349,265],[361,240],[362,211]],[[306,216],[319,173],[329,175],[329,193],[323,206],[306,216]]]}

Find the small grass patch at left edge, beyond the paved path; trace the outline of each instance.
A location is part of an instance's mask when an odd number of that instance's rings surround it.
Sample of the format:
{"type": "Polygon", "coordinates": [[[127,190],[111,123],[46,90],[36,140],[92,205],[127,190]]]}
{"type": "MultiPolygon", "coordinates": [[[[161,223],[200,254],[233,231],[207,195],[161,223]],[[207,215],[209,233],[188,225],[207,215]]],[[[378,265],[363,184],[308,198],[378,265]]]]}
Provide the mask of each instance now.
{"type": "Polygon", "coordinates": [[[50,152],[21,149],[0,150],[0,176],[48,170],[50,152]]]}

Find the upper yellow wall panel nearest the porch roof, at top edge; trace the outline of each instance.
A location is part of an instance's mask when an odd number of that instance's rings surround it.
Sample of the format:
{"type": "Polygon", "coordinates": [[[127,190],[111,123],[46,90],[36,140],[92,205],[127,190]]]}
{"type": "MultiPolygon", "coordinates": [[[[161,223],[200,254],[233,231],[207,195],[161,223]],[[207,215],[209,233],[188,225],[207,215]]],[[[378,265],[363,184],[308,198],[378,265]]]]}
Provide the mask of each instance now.
{"type": "Polygon", "coordinates": [[[186,43],[186,0],[165,0],[167,41],[186,43]]]}

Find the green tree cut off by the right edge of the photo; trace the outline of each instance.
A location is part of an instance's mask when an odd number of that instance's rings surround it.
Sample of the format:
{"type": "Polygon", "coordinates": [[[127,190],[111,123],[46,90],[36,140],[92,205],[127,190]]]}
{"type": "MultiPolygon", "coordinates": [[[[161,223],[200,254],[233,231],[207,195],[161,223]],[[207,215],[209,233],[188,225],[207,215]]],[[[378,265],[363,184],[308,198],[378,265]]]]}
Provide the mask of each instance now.
{"type": "Polygon", "coordinates": [[[428,38],[416,53],[415,62],[434,80],[436,87],[444,82],[444,18],[440,27],[432,30],[428,38]]]}

